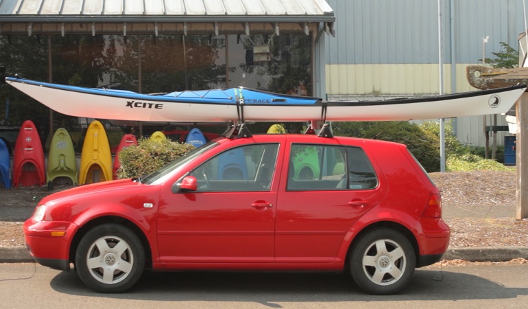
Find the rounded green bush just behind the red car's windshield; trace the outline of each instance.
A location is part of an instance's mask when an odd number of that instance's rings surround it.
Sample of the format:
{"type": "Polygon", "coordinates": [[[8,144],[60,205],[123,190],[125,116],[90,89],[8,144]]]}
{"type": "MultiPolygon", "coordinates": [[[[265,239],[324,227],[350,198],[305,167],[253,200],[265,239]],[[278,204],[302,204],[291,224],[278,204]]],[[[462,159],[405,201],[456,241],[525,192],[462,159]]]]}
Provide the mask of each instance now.
{"type": "Polygon", "coordinates": [[[130,146],[119,152],[121,167],[117,171],[117,177],[125,179],[145,176],[194,148],[191,144],[178,144],[170,139],[140,139],[138,146],[130,146]]]}

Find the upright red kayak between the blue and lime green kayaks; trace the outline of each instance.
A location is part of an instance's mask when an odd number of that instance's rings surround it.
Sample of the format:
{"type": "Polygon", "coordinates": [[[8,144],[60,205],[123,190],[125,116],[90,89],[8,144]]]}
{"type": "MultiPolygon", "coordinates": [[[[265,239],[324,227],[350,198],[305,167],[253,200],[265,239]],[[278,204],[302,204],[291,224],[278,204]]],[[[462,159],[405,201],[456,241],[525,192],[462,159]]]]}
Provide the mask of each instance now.
{"type": "Polygon", "coordinates": [[[30,187],[46,183],[44,151],[35,124],[26,120],[19,131],[13,150],[13,187],[30,187]]]}

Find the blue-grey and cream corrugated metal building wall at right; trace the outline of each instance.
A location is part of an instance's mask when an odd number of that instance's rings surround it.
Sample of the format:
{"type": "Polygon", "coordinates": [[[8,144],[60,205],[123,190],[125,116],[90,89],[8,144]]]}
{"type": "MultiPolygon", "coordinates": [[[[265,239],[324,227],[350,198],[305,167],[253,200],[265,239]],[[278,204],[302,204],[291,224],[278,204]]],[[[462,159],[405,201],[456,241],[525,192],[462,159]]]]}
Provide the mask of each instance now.
{"type": "MultiPolygon", "coordinates": [[[[517,48],[521,0],[441,0],[444,93],[476,90],[466,66],[495,58],[500,42],[517,48]],[[453,5],[453,6],[451,6],[453,5]],[[453,66],[454,63],[454,66],[453,66]],[[452,76],[454,67],[454,78],[452,76]],[[453,89],[455,88],[455,89],[453,89]]],[[[337,18],[326,45],[326,90],[332,100],[440,93],[438,0],[328,0],[337,18]]],[[[506,125],[498,117],[497,125],[506,125]]],[[[490,125],[490,117],[488,117],[490,125]]],[[[483,146],[483,117],[461,117],[460,141],[483,146]]],[[[499,142],[507,133],[499,133],[499,142]]]]}

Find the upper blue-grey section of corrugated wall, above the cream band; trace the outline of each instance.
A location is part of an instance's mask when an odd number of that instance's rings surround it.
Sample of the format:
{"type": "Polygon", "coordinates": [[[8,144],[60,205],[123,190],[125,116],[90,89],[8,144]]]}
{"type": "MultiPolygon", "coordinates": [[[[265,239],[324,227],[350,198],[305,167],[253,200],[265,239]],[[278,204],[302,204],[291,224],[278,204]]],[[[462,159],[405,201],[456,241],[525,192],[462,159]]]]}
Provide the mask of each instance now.
{"type": "MultiPolygon", "coordinates": [[[[326,63],[438,63],[437,0],[328,0],[334,10],[336,36],[328,40],[326,63]]],[[[455,61],[482,58],[482,38],[490,36],[486,56],[505,42],[516,47],[523,32],[521,0],[441,0],[442,62],[451,63],[451,33],[455,61]],[[453,32],[451,32],[453,3],[453,32]]]]}

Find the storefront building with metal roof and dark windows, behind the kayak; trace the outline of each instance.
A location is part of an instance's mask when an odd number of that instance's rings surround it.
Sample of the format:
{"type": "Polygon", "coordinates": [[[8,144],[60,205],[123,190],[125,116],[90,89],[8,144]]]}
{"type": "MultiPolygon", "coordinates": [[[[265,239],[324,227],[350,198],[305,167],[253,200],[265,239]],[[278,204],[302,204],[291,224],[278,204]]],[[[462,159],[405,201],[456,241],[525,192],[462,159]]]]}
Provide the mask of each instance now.
{"type": "MultiPolygon", "coordinates": [[[[0,0],[0,67],[7,76],[139,93],[242,86],[323,95],[320,59],[334,21],[322,0],[0,0]]],[[[0,126],[26,119],[44,141],[67,128],[79,147],[90,121],[1,87],[0,126]]],[[[105,125],[115,145],[145,124],[105,125]]]]}

